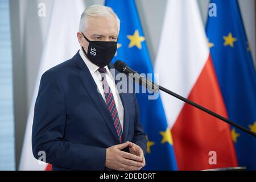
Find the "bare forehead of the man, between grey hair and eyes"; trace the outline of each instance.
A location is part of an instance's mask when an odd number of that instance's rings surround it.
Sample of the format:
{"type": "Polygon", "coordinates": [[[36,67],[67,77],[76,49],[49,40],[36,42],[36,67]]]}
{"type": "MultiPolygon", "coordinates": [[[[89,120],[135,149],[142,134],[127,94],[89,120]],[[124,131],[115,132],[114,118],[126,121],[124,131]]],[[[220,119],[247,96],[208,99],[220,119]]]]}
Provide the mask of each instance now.
{"type": "Polygon", "coordinates": [[[86,21],[87,34],[118,34],[117,19],[114,15],[91,16],[86,21]]]}

